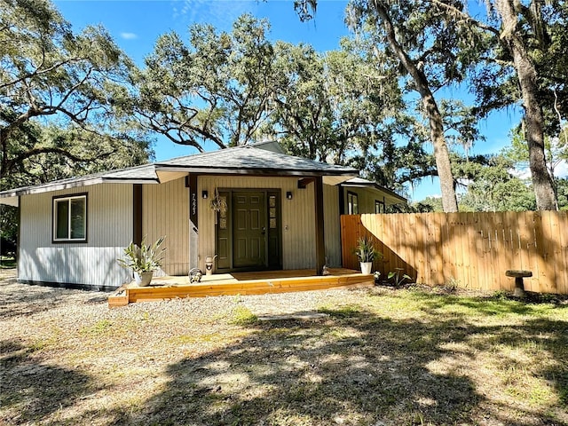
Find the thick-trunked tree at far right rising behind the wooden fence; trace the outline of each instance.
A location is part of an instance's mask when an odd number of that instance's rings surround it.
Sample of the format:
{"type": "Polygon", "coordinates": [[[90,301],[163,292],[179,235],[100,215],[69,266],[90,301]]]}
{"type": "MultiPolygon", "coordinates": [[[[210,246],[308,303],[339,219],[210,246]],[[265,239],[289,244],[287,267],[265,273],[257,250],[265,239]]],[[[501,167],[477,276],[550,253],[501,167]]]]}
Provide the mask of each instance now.
{"type": "MultiPolygon", "coordinates": [[[[442,0],[432,0],[433,4],[446,9],[454,16],[458,28],[479,28],[492,37],[491,49],[486,51],[485,59],[489,66],[477,74],[477,92],[480,111],[489,111],[494,107],[510,105],[522,100],[525,110],[525,139],[529,150],[529,167],[533,178],[533,188],[540,210],[555,210],[556,197],[551,177],[548,175],[545,155],[545,114],[543,106],[546,97],[543,91],[556,96],[556,87],[566,91],[566,71],[562,65],[564,59],[553,59],[552,72],[539,63],[549,63],[550,53],[560,58],[566,56],[566,46],[558,43],[567,40],[566,6],[563,2],[552,2],[545,6],[540,0],[523,3],[516,0],[487,1],[490,11],[485,20],[472,18],[465,2],[450,4],[442,0]],[[551,36],[554,29],[554,37],[551,36]],[[549,78],[542,78],[548,75],[549,78]],[[563,80],[564,79],[564,80],[563,80]],[[553,83],[554,82],[554,83],[553,83]],[[561,83],[562,82],[562,83],[561,83]],[[503,84],[505,83],[505,84],[503,84]],[[551,86],[552,83],[552,86],[551,86]],[[496,84],[496,91],[493,88],[496,84]],[[547,87],[548,86],[548,87],[547,87]],[[493,93],[492,93],[493,91],[493,93]]],[[[548,96],[548,99],[552,98],[548,96]]],[[[550,102],[548,102],[550,105],[550,102]]],[[[563,103],[566,106],[566,103],[563,103]]],[[[557,106],[557,105],[556,105],[557,106]]]]}

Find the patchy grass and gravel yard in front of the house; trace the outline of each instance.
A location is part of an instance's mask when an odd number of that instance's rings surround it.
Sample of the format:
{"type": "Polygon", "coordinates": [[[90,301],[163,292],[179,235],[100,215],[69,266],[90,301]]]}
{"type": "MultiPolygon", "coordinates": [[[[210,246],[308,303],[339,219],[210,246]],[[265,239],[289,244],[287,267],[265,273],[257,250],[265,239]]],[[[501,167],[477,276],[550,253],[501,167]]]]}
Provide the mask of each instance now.
{"type": "Polygon", "coordinates": [[[94,296],[0,281],[0,423],[568,425],[565,297],[94,296]],[[267,304],[327,317],[257,320],[267,304]]]}

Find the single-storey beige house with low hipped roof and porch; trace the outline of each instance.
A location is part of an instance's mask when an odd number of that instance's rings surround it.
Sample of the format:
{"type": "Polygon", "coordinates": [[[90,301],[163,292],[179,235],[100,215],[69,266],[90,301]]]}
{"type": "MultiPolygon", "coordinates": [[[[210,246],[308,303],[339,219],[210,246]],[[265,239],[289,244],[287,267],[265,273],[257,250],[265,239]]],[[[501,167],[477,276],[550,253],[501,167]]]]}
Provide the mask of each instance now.
{"type": "Polygon", "coordinates": [[[238,146],[0,193],[20,206],[21,282],[110,289],[130,241],[166,237],[163,273],[321,271],[341,265],[340,213],[406,200],[358,170],[238,146]]]}

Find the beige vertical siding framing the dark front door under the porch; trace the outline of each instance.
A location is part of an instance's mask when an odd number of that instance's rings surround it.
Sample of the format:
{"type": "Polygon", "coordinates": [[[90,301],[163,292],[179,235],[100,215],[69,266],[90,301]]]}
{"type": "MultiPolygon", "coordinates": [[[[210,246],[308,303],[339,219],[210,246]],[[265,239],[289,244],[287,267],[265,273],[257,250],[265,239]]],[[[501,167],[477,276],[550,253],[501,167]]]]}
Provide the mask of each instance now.
{"type": "MultiPolygon", "coordinates": [[[[282,267],[284,269],[315,268],[315,210],[313,184],[298,189],[298,177],[199,177],[198,193],[206,190],[215,193],[215,188],[280,189],[282,206],[282,267]],[[286,193],[293,194],[292,200],[286,193]]],[[[199,262],[205,268],[205,256],[215,254],[215,215],[209,202],[200,197],[199,215],[199,262]]]]}

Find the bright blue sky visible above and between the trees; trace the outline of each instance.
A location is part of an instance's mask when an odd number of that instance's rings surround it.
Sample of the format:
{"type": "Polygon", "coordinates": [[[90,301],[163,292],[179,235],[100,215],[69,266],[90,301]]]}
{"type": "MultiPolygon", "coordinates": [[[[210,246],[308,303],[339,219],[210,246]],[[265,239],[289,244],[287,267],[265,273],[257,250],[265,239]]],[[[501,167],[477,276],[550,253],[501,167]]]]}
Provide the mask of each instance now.
{"type": "MultiPolygon", "coordinates": [[[[245,12],[270,21],[272,32],[269,37],[272,40],[310,43],[318,51],[337,49],[341,37],[349,35],[343,23],[347,4],[343,0],[319,0],[316,19],[305,23],[297,18],[293,0],[58,0],[54,4],[71,22],[75,32],[87,25],[103,25],[140,66],[153,50],[158,36],[176,31],[185,37],[187,28],[193,23],[210,23],[218,29],[230,30],[233,21],[245,12]]],[[[457,91],[450,93],[456,97],[459,94],[457,91]]],[[[509,130],[517,122],[518,112],[513,110],[492,114],[479,123],[486,140],[474,146],[472,152],[497,152],[508,145],[509,130]]],[[[154,149],[157,160],[195,152],[167,140],[159,140],[154,149]]],[[[420,201],[439,192],[436,179],[427,178],[414,187],[411,198],[420,201]]]]}

